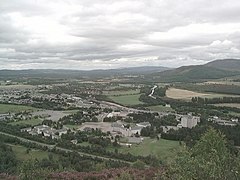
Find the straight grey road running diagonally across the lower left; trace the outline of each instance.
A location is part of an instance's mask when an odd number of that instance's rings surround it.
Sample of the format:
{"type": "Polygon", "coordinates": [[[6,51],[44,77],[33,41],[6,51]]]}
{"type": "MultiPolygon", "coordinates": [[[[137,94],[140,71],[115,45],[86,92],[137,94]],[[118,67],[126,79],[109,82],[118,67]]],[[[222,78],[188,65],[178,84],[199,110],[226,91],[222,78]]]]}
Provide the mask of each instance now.
{"type": "Polygon", "coordinates": [[[18,136],[12,135],[12,134],[4,133],[4,132],[0,132],[0,134],[4,134],[4,135],[6,135],[6,136],[18,138],[19,140],[21,140],[21,141],[23,141],[23,142],[35,143],[35,144],[40,145],[40,146],[42,146],[42,147],[46,146],[46,147],[48,147],[49,149],[56,148],[57,150],[61,150],[61,151],[65,151],[65,152],[77,152],[77,153],[78,153],[79,155],[81,155],[81,156],[88,156],[88,157],[92,157],[92,158],[99,158],[99,159],[102,159],[102,160],[118,161],[118,162],[130,164],[130,165],[132,164],[132,162],[129,162],[129,161],[124,161],[124,160],[120,160],[120,159],[108,158],[108,157],[103,157],[103,156],[98,156],[98,155],[83,153],[83,152],[79,152],[79,151],[74,151],[74,150],[71,150],[71,149],[66,149],[66,148],[62,148],[62,147],[57,147],[57,146],[55,146],[55,145],[49,145],[49,144],[41,143],[41,142],[38,142],[38,141],[29,140],[29,139],[26,139],[26,138],[18,137],[18,136]]]}

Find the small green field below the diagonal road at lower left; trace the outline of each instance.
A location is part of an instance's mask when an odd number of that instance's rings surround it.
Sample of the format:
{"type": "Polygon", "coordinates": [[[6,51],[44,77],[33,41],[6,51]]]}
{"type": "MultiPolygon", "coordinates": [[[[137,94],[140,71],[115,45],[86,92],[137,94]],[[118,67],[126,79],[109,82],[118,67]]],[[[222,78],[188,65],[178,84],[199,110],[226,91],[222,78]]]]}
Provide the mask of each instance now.
{"type": "Polygon", "coordinates": [[[16,154],[16,157],[20,161],[25,161],[29,159],[43,159],[43,158],[48,158],[48,152],[41,151],[41,150],[36,150],[36,149],[31,149],[29,153],[27,153],[27,148],[24,146],[20,145],[12,145],[8,144],[9,146],[12,147],[13,152],[16,154]]]}

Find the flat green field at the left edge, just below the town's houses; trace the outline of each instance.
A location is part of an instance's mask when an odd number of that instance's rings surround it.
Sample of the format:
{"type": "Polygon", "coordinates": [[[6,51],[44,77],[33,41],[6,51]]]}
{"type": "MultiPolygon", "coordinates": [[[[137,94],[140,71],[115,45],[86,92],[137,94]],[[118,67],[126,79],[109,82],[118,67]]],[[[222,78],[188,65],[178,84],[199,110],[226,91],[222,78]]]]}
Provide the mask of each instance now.
{"type": "Polygon", "coordinates": [[[0,104],[0,113],[18,113],[22,111],[35,111],[36,108],[30,106],[13,105],[13,104],[0,104]]]}

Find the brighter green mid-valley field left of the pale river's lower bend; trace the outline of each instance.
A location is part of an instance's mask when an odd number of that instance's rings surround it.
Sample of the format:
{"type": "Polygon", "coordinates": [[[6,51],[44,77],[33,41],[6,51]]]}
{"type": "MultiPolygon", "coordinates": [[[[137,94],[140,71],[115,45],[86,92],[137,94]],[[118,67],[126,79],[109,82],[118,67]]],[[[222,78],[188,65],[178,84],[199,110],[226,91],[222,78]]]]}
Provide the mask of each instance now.
{"type": "Polygon", "coordinates": [[[122,105],[137,105],[137,104],[143,104],[141,101],[139,101],[140,94],[134,94],[134,95],[124,95],[124,96],[108,96],[110,99],[112,99],[114,102],[122,105]]]}

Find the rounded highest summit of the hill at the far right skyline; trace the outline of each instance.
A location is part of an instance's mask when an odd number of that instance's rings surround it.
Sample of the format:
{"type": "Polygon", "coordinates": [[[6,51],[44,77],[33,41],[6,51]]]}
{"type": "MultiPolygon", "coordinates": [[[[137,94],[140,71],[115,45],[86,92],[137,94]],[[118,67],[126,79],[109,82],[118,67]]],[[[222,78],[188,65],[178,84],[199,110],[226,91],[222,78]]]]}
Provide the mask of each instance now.
{"type": "Polygon", "coordinates": [[[221,59],[205,64],[205,66],[228,71],[240,71],[240,59],[221,59]]]}

